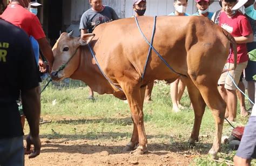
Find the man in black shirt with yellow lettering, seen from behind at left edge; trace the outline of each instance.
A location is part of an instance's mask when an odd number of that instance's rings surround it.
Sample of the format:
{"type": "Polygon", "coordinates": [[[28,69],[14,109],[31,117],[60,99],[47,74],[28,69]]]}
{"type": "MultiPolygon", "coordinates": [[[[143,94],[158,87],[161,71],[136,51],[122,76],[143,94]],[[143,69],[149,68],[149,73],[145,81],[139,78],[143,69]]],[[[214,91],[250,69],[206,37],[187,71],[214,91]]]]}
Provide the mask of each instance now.
{"type": "Polygon", "coordinates": [[[28,35],[0,19],[0,165],[24,165],[23,130],[16,100],[21,95],[30,133],[26,149],[40,154],[41,103],[38,67],[28,35]]]}

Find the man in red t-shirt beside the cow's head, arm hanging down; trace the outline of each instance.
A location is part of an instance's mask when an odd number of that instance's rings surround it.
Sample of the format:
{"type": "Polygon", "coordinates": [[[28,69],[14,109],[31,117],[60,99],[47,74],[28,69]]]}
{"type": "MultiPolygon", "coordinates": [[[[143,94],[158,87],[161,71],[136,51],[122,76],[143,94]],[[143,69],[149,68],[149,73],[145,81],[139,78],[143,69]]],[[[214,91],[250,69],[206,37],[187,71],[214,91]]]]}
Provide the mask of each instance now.
{"type": "Polygon", "coordinates": [[[34,37],[38,41],[39,47],[51,67],[53,62],[51,46],[45,37],[39,19],[29,11],[29,5],[30,0],[12,0],[11,4],[4,10],[1,18],[21,27],[29,36],[34,37]]]}

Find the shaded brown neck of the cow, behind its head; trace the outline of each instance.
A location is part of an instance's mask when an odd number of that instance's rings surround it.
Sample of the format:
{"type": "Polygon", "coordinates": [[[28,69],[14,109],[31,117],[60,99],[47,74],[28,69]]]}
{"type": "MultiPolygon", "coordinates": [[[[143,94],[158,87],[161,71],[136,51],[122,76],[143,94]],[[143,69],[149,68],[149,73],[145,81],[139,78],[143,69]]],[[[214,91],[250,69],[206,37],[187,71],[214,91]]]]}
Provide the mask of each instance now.
{"type": "Polygon", "coordinates": [[[99,94],[113,94],[113,88],[95,64],[88,47],[79,47],[78,51],[80,52],[80,64],[70,78],[85,82],[93,91],[99,94]]]}

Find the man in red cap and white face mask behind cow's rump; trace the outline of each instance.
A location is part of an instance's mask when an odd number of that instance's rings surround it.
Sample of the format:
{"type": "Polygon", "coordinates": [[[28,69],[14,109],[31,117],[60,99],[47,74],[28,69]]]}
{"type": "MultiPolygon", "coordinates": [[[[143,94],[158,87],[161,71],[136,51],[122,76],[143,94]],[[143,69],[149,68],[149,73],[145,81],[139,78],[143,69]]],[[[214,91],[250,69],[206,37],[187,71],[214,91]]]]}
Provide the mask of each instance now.
{"type": "Polygon", "coordinates": [[[209,5],[209,0],[196,0],[196,6],[198,11],[196,13],[193,13],[193,16],[204,16],[211,19],[213,16],[213,12],[209,12],[209,5]]]}

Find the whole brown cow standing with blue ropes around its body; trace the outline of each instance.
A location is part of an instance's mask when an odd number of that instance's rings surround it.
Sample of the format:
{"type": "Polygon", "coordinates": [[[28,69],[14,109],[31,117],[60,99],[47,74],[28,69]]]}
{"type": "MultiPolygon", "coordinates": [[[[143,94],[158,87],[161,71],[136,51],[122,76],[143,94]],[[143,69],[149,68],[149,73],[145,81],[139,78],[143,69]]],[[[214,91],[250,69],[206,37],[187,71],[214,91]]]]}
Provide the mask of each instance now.
{"type": "MultiPolygon", "coordinates": [[[[153,18],[139,17],[138,20],[142,31],[150,40],[153,18]]],[[[132,150],[138,144],[133,152],[143,154],[147,147],[143,122],[145,86],[153,80],[176,80],[180,75],[166,67],[152,51],[145,77],[141,79],[149,45],[140,34],[134,18],[99,25],[93,33],[84,34],[82,39],[62,33],[53,47],[55,60],[51,77],[53,80],[82,80],[99,94],[113,94],[122,100],[127,98],[133,120],[133,133],[125,149],[132,150]],[[115,86],[99,70],[88,43],[104,74],[115,86]],[[72,55],[74,56],[69,61],[72,55]],[[67,62],[65,68],[57,72],[67,62]]],[[[226,108],[226,103],[217,90],[217,82],[231,43],[236,51],[234,38],[207,18],[157,17],[153,46],[176,72],[185,75],[183,78],[193,104],[195,120],[189,141],[198,141],[201,119],[207,105],[215,119],[216,133],[209,151],[213,156],[220,150],[226,108]]]]}

